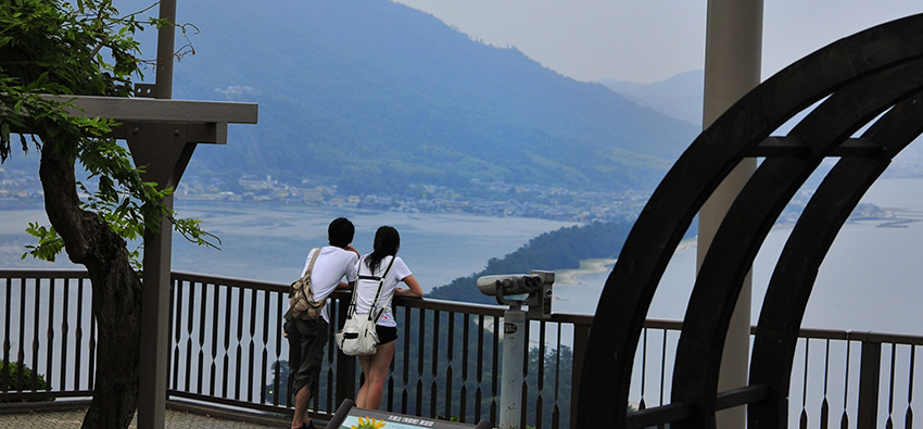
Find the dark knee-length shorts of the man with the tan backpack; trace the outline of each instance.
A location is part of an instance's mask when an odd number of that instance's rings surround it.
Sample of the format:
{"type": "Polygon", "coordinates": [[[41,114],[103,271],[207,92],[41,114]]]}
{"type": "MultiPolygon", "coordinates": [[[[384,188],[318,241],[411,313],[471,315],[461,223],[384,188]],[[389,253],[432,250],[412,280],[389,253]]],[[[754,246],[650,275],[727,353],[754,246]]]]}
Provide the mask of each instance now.
{"type": "Polygon", "coordinates": [[[298,318],[286,321],[289,338],[289,388],[292,398],[307,386],[313,396],[317,395],[320,365],[324,363],[324,346],[327,345],[328,324],[323,317],[313,320],[298,318]]]}

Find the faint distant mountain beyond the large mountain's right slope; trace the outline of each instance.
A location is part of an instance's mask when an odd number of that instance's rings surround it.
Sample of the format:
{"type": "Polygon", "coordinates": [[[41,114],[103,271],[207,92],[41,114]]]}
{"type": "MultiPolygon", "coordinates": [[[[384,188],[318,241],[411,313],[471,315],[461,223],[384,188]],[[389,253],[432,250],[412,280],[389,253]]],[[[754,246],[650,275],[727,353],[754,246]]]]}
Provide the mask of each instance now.
{"type": "Polygon", "coordinates": [[[701,126],[704,71],[692,71],[653,84],[600,79],[598,84],[641,105],[701,126]]]}

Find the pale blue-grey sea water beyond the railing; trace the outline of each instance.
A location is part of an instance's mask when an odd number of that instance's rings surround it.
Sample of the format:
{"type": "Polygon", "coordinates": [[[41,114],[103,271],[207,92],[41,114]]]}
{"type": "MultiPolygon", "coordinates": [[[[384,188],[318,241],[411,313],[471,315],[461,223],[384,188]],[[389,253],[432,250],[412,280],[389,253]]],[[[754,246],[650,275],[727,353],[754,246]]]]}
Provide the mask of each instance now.
{"type": "MultiPolygon", "coordinates": [[[[862,202],[896,218],[848,223],[821,266],[804,328],[920,335],[923,332],[923,179],[878,180],[862,202]]],[[[62,256],[49,264],[21,258],[31,238],[29,222],[46,222],[40,204],[0,202],[0,266],[74,267],[62,256]]],[[[390,225],[401,234],[401,255],[425,291],[478,273],[490,258],[502,258],[530,239],[572,222],[489,217],[457,213],[399,213],[352,207],[279,203],[177,201],[181,217],[202,220],[220,238],[219,250],[198,247],[175,235],[173,269],[289,283],[301,273],[307,251],[326,243],[327,224],[344,216],[356,225],[354,247],[371,250],[375,230],[390,225]]],[[[753,310],[791,232],[777,225],[754,263],[753,310]]],[[[682,319],[694,285],[695,240],[674,253],[655,294],[648,317],[682,319]]],[[[556,313],[594,314],[615,260],[584,261],[578,269],[556,272],[556,313]]],[[[547,269],[547,267],[532,267],[547,269]]]]}

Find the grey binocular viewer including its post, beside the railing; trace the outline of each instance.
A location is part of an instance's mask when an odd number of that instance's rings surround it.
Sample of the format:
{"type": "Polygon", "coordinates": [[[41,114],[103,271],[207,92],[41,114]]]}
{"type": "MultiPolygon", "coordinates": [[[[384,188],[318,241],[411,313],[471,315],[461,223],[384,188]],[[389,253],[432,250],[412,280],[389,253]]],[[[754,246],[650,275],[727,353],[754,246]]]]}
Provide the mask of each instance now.
{"type": "Polygon", "coordinates": [[[552,315],[554,272],[533,269],[529,274],[484,276],[478,278],[478,289],[496,296],[498,304],[509,305],[503,313],[503,369],[500,391],[500,429],[520,428],[522,409],[522,363],[526,353],[526,312],[544,319],[552,315]]]}

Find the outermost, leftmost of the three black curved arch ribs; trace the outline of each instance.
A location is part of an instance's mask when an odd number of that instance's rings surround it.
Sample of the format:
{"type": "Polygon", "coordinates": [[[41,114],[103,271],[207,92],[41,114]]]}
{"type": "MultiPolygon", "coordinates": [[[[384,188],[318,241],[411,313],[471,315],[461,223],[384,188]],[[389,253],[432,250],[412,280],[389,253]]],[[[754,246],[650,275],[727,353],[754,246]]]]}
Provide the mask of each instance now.
{"type": "MultiPolygon", "coordinates": [[[[875,75],[899,73],[894,71],[912,66],[907,63],[913,63],[914,60],[923,56],[923,30],[921,29],[923,29],[923,15],[914,15],[836,41],[794,63],[755,88],[693,141],[668,172],[640,214],[606,281],[591,328],[584,359],[577,411],[578,427],[625,426],[627,419],[621,413],[612,415],[597,412],[624,408],[637,340],[654,292],[682,235],[715,188],[742,159],[754,153],[770,133],[799,111],[854,84],[868,81],[868,79],[874,80],[875,75]]],[[[893,81],[881,80],[878,83],[884,86],[893,84],[893,81]]],[[[860,86],[861,84],[857,88],[860,86]]],[[[901,96],[890,97],[889,101],[895,102],[908,91],[910,90],[905,90],[901,96]]],[[[835,99],[840,98],[846,99],[845,96],[835,99]]],[[[874,97],[868,98],[869,101],[873,99],[874,97]]],[[[878,104],[882,104],[878,109],[867,110],[881,111],[888,106],[887,102],[878,104]]],[[[838,105],[847,110],[861,108],[847,102],[838,105]]],[[[855,119],[854,123],[864,123],[871,117],[862,115],[855,119]]],[[[848,123],[849,117],[846,116],[843,121],[848,123]]],[[[849,126],[842,127],[843,139],[848,137],[849,128],[849,126]]],[[[837,143],[832,141],[830,144],[836,147],[837,143]]],[[[725,288],[726,293],[720,299],[725,303],[734,301],[735,289],[738,291],[734,287],[725,288]]],[[[700,290],[703,290],[700,293],[707,292],[707,289],[700,290]]],[[[698,304],[695,308],[695,312],[701,312],[698,304]]],[[[701,332],[707,332],[712,338],[717,332],[726,330],[726,326],[720,326],[723,317],[707,320],[704,316],[694,316],[692,320],[694,325],[701,324],[705,327],[701,332]]],[[[683,337],[685,336],[684,330],[683,337]]],[[[691,337],[682,341],[690,344],[691,337]]],[[[705,343],[713,344],[713,341],[691,342],[691,344],[705,343]]],[[[692,356],[708,356],[706,358],[708,361],[716,352],[715,348],[706,348],[701,351],[695,349],[696,346],[688,345],[684,353],[692,356]]],[[[688,373],[680,371],[686,375],[688,373]]],[[[711,383],[711,377],[717,375],[712,371],[708,374],[706,382],[695,389],[712,390],[709,383],[711,383]]],[[[673,388],[677,389],[675,383],[673,388]]],[[[685,399],[692,395],[680,392],[678,398],[685,399]]],[[[706,414],[713,409],[713,394],[711,399],[692,398],[692,400],[694,406],[686,409],[701,408],[706,409],[706,414]]],[[[696,415],[705,416],[706,414],[696,415]]],[[[709,417],[699,417],[697,421],[707,422],[709,417]]]]}

